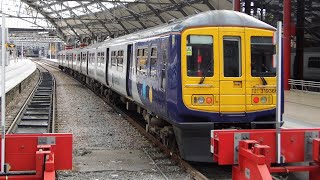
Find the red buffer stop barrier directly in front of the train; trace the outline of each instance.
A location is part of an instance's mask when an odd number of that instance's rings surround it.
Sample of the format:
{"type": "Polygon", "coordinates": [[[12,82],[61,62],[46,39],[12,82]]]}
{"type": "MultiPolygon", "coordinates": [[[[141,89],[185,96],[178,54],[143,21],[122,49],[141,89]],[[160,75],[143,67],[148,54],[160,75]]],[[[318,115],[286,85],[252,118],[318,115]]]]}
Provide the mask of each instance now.
{"type": "Polygon", "coordinates": [[[213,130],[211,150],[220,165],[234,165],[233,179],[272,179],[271,173],[309,172],[320,179],[320,129],[282,129],[281,156],[285,163],[308,166],[271,166],[276,162],[275,130],[213,130]]]}

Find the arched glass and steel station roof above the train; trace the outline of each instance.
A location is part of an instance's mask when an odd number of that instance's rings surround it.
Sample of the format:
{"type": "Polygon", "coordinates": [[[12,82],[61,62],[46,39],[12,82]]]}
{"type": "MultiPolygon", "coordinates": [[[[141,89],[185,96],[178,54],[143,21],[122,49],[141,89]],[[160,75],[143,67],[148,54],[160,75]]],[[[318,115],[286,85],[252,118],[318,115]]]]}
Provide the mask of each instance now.
{"type": "Polygon", "coordinates": [[[105,39],[202,11],[232,9],[232,0],[10,0],[7,4],[14,6],[4,10],[7,16],[55,29],[65,41],[105,39]],[[13,8],[18,10],[12,12],[13,8]]]}

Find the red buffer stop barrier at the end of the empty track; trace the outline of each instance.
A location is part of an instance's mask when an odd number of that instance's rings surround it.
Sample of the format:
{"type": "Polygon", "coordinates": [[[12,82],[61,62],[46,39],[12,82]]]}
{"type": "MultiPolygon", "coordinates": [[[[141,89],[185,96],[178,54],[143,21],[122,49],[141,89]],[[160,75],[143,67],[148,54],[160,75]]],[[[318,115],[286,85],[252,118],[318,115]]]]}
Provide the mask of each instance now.
{"type": "Polygon", "coordinates": [[[56,170],[72,169],[72,134],[6,135],[1,179],[55,179],[56,170]]]}

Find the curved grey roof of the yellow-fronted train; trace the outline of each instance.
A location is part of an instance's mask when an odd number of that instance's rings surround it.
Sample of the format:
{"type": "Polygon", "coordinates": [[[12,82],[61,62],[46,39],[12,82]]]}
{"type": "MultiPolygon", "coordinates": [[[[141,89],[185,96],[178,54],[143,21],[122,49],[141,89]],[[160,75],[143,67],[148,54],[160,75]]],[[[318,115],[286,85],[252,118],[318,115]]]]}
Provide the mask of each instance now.
{"type": "Polygon", "coordinates": [[[109,43],[123,43],[127,41],[136,41],[144,38],[151,38],[154,36],[172,33],[182,32],[184,29],[190,27],[212,27],[212,26],[237,26],[237,27],[252,27],[269,29],[275,31],[276,29],[271,25],[262,22],[252,16],[244,13],[231,10],[213,10],[202,12],[193,16],[188,16],[183,19],[179,19],[170,24],[159,25],[146,30],[137,31],[122,37],[114,38],[105,41],[105,44],[109,43]]]}

